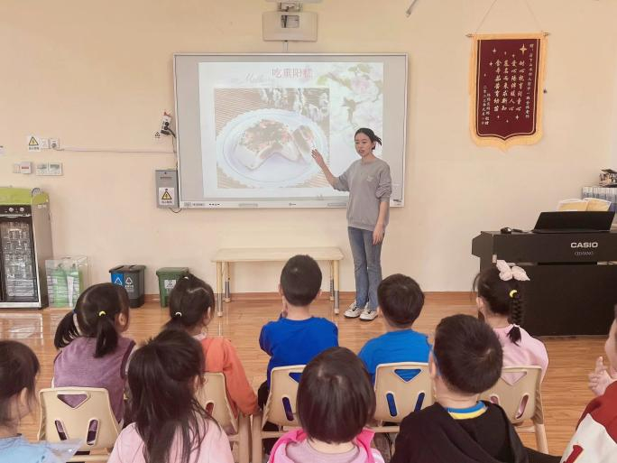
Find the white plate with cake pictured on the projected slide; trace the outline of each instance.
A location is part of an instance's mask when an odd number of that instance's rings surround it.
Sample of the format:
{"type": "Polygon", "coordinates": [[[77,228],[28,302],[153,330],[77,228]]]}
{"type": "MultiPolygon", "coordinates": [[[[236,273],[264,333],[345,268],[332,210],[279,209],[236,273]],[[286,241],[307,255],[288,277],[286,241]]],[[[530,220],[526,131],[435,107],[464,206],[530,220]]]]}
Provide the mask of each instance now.
{"type": "Polygon", "coordinates": [[[293,187],[319,173],[311,158],[327,136],[309,117],[283,109],[236,116],[216,136],[218,167],[248,188],[293,187]]]}

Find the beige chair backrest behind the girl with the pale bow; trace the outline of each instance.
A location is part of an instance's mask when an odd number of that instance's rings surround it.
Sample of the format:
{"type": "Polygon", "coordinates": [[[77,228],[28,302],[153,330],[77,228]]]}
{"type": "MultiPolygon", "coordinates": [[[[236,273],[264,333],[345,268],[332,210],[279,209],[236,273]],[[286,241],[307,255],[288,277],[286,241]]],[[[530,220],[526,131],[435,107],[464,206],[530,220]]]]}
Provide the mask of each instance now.
{"type": "Polygon", "coordinates": [[[512,423],[529,419],[542,423],[541,377],[539,366],[504,366],[497,384],[480,398],[500,405],[512,423]]]}

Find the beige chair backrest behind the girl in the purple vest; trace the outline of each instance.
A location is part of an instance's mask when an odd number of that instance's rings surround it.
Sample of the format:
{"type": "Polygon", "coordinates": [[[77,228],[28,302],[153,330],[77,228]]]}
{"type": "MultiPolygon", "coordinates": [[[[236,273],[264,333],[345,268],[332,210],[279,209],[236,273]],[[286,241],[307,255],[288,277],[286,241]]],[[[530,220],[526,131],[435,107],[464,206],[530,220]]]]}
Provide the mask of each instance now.
{"type": "MultiPolygon", "coordinates": [[[[41,389],[39,440],[58,442],[81,439],[80,450],[111,449],[120,432],[109,403],[107,390],[96,387],[55,387],[41,389]],[[62,397],[78,396],[83,401],[71,406],[62,397]]],[[[72,401],[71,401],[72,402],[72,401]]]]}

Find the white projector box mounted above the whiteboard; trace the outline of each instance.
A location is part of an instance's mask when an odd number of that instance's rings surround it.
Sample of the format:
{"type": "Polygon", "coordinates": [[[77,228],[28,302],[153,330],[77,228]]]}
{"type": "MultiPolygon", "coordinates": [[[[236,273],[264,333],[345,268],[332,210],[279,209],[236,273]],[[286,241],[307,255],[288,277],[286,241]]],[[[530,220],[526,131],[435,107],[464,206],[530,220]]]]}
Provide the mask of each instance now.
{"type": "Polygon", "coordinates": [[[263,14],[263,40],[317,42],[317,13],[272,11],[263,14]]]}

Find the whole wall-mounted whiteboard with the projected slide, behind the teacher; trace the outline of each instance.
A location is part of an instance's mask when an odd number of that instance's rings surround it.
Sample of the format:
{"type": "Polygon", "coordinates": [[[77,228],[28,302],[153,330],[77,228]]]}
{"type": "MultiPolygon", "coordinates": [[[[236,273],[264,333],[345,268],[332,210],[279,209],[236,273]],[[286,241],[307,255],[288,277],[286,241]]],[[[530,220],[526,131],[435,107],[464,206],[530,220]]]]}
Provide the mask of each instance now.
{"type": "Polygon", "coordinates": [[[402,206],[407,55],[176,54],[174,84],[180,207],[345,207],[311,151],[340,175],[360,127],[402,206]]]}

